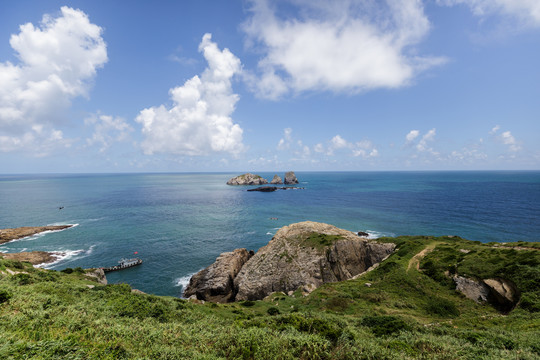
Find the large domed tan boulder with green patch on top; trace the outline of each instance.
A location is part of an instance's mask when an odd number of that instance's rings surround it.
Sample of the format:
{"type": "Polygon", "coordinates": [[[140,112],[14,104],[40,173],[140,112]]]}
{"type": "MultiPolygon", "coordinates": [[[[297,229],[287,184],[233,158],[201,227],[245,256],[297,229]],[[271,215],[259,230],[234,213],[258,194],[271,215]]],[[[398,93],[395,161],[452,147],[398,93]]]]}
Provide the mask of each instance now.
{"type": "Polygon", "coordinates": [[[306,221],[281,228],[234,279],[235,300],[348,280],[393,252],[394,244],[358,237],[335,226],[306,221]]]}

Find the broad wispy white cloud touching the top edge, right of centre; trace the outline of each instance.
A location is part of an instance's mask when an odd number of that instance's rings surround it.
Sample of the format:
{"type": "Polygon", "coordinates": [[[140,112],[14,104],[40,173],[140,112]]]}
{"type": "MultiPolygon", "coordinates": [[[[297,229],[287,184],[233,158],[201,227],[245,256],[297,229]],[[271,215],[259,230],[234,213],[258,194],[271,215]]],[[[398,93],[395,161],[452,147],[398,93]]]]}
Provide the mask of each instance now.
{"type": "Polygon", "coordinates": [[[359,92],[408,85],[422,70],[445,61],[410,51],[430,30],[422,1],[253,0],[244,24],[248,44],[262,51],[259,96],[287,92],[359,92]]]}

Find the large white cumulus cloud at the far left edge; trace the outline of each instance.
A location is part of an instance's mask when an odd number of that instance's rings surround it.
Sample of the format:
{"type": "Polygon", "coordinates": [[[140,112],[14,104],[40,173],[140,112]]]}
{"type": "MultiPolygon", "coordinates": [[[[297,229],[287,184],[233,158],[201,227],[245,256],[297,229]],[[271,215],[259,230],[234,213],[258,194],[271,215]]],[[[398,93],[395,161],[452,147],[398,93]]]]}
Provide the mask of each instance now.
{"type": "Polygon", "coordinates": [[[57,17],[45,15],[39,26],[19,30],[9,41],[19,63],[0,63],[0,150],[38,149],[40,141],[50,149],[63,139],[54,126],[65,120],[71,100],[87,96],[107,62],[107,46],[101,27],[66,6],[57,17]]]}

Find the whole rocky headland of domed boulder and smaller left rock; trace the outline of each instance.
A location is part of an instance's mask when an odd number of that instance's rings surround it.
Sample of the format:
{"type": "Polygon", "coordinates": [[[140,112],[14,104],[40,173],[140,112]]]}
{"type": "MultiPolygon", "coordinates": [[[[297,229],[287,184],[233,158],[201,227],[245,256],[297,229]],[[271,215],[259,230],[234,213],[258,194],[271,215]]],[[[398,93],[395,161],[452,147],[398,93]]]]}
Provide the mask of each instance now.
{"type": "Polygon", "coordinates": [[[191,278],[184,295],[230,302],[260,300],[276,291],[310,292],[365,272],[394,248],[332,225],[296,223],[281,228],[253,256],[246,249],[220,255],[191,278]]]}

